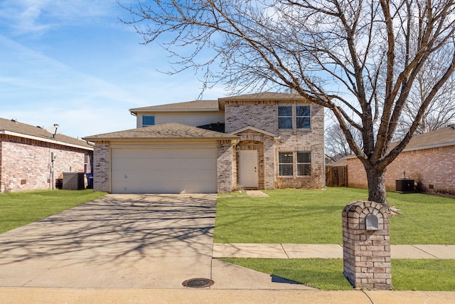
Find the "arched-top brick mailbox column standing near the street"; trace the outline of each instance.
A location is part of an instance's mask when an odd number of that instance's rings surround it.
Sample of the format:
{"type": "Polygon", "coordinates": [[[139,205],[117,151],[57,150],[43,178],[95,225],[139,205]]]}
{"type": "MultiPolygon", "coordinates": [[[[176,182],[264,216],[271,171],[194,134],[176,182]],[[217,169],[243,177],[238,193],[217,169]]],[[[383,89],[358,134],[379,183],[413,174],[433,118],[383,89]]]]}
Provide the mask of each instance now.
{"type": "Polygon", "coordinates": [[[344,275],[356,289],[391,290],[387,210],[374,201],[354,201],[342,216],[344,275]]]}

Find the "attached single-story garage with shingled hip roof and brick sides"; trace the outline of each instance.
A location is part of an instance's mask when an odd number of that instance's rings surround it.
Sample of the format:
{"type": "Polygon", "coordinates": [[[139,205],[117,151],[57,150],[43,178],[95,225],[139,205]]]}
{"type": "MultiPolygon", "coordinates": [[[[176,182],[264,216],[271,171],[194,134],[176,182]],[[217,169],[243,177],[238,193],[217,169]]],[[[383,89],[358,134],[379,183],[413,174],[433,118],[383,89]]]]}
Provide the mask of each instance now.
{"type": "Polygon", "coordinates": [[[178,123],[84,137],[94,142],[93,189],[110,193],[232,190],[238,137],[178,123]]]}

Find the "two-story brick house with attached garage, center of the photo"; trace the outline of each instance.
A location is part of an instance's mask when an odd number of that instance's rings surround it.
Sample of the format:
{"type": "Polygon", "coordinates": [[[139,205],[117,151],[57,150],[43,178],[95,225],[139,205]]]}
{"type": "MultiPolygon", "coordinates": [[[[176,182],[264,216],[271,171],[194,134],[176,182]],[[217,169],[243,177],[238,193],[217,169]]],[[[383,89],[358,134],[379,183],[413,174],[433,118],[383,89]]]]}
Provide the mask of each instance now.
{"type": "Polygon", "coordinates": [[[131,109],[137,128],[95,142],[95,190],[230,192],[322,188],[323,108],[257,93],[131,109]]]}

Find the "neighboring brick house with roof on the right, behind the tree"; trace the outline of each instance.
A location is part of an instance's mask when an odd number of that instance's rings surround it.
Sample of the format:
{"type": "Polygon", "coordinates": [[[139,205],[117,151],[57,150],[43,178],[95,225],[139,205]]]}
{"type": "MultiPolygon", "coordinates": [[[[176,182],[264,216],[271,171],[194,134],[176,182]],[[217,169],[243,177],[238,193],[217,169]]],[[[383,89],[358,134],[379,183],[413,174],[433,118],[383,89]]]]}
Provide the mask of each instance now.
{"type": "MultiPolygon", "coordinates": [[[[387,167],[385,187],[395,190],[395,181],[414,179],[419,191],[455,194],[455,127],[417,135],[387,167]]],[[[348,187],[367,188],[363,165],[355,157],[347,158],[348,187]]]]}

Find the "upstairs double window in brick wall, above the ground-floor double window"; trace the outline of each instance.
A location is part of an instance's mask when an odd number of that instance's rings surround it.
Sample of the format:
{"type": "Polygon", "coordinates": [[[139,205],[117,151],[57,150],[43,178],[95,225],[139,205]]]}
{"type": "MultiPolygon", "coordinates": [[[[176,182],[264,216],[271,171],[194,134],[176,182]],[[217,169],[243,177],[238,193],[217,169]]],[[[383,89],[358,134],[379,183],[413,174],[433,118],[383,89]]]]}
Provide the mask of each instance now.
{"type": "Polygon", "coordinates": [[[311,116],[309,105],[279,105],[278,129],[310,129],[311,116]]]}

